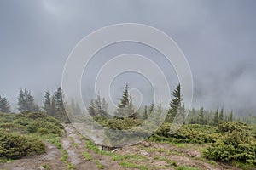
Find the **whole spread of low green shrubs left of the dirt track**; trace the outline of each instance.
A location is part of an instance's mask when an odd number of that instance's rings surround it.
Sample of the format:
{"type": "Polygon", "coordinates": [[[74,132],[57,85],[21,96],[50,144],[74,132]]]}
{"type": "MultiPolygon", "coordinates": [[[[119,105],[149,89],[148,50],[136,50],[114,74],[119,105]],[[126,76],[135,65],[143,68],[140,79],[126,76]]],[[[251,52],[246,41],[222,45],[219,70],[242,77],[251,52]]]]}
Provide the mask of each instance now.
{"type": "Polygon", "coordinates": [[[0,159],[19,159],[22,156],[46,151],[44,139],[61,136],[61,122],[44,112],[22,111],[20,114],[0,113],[0,159]]]}

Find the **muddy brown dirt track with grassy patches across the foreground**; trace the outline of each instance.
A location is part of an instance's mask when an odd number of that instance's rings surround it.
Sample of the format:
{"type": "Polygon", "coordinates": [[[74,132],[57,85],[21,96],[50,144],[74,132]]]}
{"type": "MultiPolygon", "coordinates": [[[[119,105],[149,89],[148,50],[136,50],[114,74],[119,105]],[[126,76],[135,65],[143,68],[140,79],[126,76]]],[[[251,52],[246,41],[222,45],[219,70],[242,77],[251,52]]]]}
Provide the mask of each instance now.
{"type": "Polygon", "coordinates": [[[200,147],[187,144],[178,147],[172,144],[143,142],[116,150],[115,156],[98,154],[86,147],[88,141],[73,128],[65,125],[66,135],[61,138],[62,149],[45,142],[47,152],[40,156],[28,156],[20,160],[0,164],[4,170],[44,170],[45,165],[52,170],[78,169],[177,169],[179,166],[199,169],[237,169],[224,164],[212,164],[201,158],[200,147]],[[66,160],[63,161],[63,157],[66,160]]]}

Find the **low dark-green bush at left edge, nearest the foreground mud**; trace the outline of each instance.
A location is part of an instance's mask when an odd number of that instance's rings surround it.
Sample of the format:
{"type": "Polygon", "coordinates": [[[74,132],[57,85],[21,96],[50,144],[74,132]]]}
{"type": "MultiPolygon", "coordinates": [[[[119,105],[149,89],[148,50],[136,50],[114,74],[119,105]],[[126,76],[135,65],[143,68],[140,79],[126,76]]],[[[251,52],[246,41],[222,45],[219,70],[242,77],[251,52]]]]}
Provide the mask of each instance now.
{"type": "Polygon", "coordinates": [[[45,150],[45,144],[38,139],[0,131],[0,157],[2,158],[18,159],[22,156],[42,154],[45,150]]]}

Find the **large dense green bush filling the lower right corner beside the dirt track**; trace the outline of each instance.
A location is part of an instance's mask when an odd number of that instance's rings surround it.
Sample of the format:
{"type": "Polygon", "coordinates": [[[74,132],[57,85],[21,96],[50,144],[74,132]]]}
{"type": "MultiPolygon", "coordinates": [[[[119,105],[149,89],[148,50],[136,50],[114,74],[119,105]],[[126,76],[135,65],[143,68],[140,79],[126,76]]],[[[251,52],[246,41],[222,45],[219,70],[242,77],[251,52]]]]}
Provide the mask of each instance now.
{"type": "Polygon", "coordinates": [[[204,152],[204,156],[214,161],[239,161],[256,166],[256,142],[248,135],[247,125],[239,122],[221,122],[218,125],[223,136],[204,152]]]}

